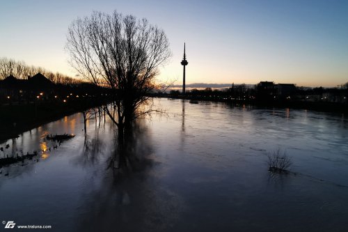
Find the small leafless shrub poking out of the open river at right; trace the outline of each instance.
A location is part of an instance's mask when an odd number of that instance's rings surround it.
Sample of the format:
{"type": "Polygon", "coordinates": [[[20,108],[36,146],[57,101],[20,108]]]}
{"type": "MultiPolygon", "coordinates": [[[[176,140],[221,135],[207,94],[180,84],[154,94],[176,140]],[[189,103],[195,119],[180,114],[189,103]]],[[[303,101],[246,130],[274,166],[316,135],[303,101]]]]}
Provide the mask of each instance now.
{"type": "Polygon", "coordinates": [[[273,153],[268,153],[269,171],[286,172],[291,164],[291,158],[284,150],[280,150],[280,148],[275,150],[273,153]]]}

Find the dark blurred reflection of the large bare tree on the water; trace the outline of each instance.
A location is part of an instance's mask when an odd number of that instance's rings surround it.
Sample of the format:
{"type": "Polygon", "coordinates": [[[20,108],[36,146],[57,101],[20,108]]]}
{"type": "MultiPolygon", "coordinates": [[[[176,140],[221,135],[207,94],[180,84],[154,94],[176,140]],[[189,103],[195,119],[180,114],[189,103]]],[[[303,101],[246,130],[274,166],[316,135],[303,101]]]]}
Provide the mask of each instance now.
{"type": "Polygon", "coordinates": [[[100,183],[91,185],[88,197],[84,197],[77,231],[166,229],[170,226],[168,222],[177,219],[180,208],[177,196],[158,188],[153,178],[148,178],[157,162],[152,157],[153,143],[145,120],[139,118],[128,132],[125,144],[116,144],[109,152],[110,158],[104,165],[108,168],[97,180],[100,183]],[[118,169],[110,165],[115,157],[119,160],[118,169]]]}

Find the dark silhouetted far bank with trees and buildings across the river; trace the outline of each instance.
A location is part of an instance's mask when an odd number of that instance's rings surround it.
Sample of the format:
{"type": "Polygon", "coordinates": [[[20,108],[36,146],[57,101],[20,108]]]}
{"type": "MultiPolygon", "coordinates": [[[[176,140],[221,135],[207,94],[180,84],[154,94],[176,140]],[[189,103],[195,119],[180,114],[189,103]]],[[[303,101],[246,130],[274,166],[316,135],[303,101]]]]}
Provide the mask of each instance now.
{"type": "Polygon", "coordinates": [[[338,88],[305,88],[294,84],[260,82],[254,87],[240,84],[224,89],[193,88],[185,95],[172,90],[170,93],[159,93],[158,96],[319,111],[348,111],[348,82],[338,88]]]}

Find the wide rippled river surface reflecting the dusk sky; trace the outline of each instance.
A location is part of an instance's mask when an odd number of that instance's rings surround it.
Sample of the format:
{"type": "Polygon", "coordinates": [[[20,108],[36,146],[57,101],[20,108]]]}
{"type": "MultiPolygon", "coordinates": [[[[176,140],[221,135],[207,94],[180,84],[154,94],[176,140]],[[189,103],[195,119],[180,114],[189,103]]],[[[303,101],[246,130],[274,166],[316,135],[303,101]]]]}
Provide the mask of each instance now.
{"type": "Polygon", "coordinates": [[[347,117],[155,103],[168,116],[138,121],[122,170],[108,169],[113,125],[91,120],[85,136],[81,114],[0,144],[1,157],[41,150],[1,168],[0,222],[48,231],[348,231],[347,117]],[[76,137],[48,150],[55,143],[46,135],[64,132],[76,137]],[[277,148],[292,157],[291,173],[267,171],[277,148]]]}

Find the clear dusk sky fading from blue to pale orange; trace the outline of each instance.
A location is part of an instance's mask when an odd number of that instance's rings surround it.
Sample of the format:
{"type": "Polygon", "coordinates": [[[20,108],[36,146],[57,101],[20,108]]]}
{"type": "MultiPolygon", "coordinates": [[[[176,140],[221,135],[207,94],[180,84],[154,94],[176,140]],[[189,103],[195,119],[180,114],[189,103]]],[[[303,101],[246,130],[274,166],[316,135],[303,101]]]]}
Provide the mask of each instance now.
{"type": "Polygon", "coordinates": [[[182,83],[338,86],[348,82],[348,1],[1,1],[0,57],[74,77],[64,50],[72,20],[93,10],[146,17],[173,57],[160,78],[182,83]]]}

